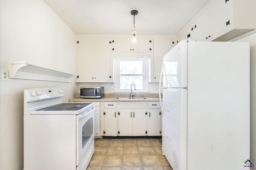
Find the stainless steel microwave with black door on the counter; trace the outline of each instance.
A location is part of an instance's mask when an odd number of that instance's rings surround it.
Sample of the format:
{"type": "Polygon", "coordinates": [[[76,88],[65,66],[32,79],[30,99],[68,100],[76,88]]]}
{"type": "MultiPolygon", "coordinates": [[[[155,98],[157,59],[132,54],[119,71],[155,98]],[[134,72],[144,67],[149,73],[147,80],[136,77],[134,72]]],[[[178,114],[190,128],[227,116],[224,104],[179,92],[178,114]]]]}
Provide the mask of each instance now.
{"type": "Polygon", "coordinates": [[[80,87],[80,98],[103,98],[104,87],[80,87]]]}

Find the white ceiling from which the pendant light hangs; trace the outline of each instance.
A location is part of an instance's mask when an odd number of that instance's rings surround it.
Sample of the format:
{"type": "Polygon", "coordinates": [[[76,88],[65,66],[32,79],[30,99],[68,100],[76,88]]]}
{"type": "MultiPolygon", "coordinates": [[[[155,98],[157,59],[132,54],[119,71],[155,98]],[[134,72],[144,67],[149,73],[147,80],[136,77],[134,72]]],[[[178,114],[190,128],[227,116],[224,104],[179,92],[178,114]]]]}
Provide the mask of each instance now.
{"type": "Polygon", "coordinates": [[[209,0],[44,0],[76,34],[176,34],[209,0]]]}

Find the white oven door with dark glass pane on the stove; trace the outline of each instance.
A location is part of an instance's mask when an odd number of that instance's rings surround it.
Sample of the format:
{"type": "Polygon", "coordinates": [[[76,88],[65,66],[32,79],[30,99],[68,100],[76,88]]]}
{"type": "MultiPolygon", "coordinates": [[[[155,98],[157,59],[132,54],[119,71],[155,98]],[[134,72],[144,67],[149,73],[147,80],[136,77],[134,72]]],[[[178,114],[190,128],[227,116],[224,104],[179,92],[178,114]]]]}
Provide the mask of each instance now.
{"type": "Polygon", "coordinates": [[[90,111],[86,110],[83,113],[76,115],[76,166],[79,166],[94,142],[95,107],[92,107],[90,107],[90,111]]]}

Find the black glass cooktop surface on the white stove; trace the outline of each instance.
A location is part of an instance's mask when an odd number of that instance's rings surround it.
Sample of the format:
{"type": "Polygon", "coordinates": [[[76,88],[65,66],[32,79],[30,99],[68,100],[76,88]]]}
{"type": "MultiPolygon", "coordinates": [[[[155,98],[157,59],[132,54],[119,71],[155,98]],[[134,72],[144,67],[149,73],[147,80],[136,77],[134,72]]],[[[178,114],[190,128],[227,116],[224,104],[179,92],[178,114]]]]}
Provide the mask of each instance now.
{"type": "Polygon", "coordinates": [[[44,107],[36,111],[76,111],[92,103],[61,103],[54,106],[44,107]]]}

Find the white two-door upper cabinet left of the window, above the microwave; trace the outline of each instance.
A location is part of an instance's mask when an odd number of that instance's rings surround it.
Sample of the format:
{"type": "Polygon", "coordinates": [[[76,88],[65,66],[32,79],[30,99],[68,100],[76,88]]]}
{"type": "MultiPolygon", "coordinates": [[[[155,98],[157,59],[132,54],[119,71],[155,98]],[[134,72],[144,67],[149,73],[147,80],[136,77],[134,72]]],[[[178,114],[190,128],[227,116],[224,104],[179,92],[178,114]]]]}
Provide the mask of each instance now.
{"type": "Polygon", "coordinates": [[[79,38],[76,82],[112,82],[110,38],[79,38]]]}

